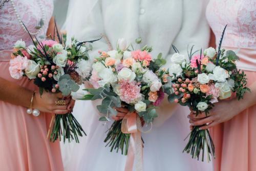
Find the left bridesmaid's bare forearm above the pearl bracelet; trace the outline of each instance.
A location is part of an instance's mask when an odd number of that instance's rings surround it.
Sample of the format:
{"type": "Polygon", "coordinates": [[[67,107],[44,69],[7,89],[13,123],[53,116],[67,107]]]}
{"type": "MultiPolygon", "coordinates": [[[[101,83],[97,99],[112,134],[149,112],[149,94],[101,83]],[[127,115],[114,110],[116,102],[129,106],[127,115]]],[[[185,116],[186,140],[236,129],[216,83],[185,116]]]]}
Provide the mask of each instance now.
{"type": "Polygon", "coordinates": [[[0,100],[29,108],[32,95],[33,91],[0,77],[0,100]]]}

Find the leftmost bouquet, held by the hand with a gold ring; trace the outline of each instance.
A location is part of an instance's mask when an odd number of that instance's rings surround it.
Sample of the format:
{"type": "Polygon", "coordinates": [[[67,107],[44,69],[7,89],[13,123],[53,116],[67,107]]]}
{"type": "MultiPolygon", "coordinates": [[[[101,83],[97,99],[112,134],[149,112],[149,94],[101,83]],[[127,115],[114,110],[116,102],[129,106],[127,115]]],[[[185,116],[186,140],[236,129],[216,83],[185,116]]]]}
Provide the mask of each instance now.
{"type": "MultiPolygon", "coordinates": [[[[26,47],[24,41],[18,40],[11,55],[10,75],[15,79],[26,76],[33,80],[40,95],[47,91],[61,92],[63,96],[68,96],[71,92],[76,92],[82,79],[90,75],[91,65],[87,52],[91,47],[87,49],[83,46],[85,42],[78,42],[74,38],[71,45],[66,45],[66,34],[59,35],[57,32],[57,35],[59,43],[54,39],[38,41],[30,35],[33,45],[26,47]]],[[[50,129],[51,125],[47,137],[50,129]]],[[[82,136],[82,133],[84,131],[81,125],[72,113],[55,115],[50,141],[54,142],[58,138],[61,140],[62,135],[64,142],[66,139],[69,142],[73,139],[79,142],[78,136],[82,136]]]]}

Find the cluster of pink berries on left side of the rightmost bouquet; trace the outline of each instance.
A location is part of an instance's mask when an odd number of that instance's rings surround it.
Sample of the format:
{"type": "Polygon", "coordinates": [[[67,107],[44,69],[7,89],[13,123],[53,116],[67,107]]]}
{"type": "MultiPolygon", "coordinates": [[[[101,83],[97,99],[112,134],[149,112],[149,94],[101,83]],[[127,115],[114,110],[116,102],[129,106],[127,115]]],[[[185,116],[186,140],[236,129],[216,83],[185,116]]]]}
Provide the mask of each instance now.
{"type": "MultiPolygon", "coordinates": [[[[175,95],[179,95],[180,93],[183,93],[183,96],[181,98],[182,103],[185,103],[187,99],[191,97],[189,94],[191,92],[189,89],[191,83],[192,81],[189,80],[188,78],[186,78],[184,81],[181,78],[178,78],[177,83],[172,85],[175,95]]],[[[178,98],[174,99],[174,102],[178,103],[179,99],[178,98]]]]}

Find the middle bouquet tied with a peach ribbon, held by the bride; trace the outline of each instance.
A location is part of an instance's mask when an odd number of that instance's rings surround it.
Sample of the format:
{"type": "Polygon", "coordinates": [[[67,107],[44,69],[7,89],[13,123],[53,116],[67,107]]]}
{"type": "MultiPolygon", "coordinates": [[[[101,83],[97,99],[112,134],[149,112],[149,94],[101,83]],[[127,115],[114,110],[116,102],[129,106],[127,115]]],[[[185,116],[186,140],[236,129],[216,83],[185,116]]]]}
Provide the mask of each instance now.
{"type": "MultiPolygon", "coordinates": [[[[141,39],[136,39],[136,42],[139,44],[141,39]]],[[[83,98],[102,99],[101,105],[97,105],[102,114],[99,120],[115,120],[104,142],[111,147],[111,151],[116,149],[121,154],[128,154],[129,158],[135,151],[142,153],[142,149],[138,149],[142,148],[141,127],[152,124],[157,117],[156,106],[165,93],[172,91],[168,71],[160,69],[166,61],[161,53],[153,59],[151,51],[148,46],[138,50],[134,50],[132,45],[126,47],[124,39],[118,40],[117,50],[99,51],[89,79],[94,88],[86,89],[89,94],[83,98]],[[128,112],[123,116],[116,110],[121,106],[128,112]]]]}

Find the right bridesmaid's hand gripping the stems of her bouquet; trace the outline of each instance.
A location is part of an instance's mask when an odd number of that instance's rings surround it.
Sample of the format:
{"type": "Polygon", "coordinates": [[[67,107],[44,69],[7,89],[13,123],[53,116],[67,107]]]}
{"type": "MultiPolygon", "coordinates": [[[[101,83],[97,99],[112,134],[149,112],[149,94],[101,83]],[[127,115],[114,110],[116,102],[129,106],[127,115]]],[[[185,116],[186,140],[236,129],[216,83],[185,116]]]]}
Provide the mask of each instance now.
{"type": "Polygon", "coordinates": [[[243,109],[241,110],[241,108],[239,107],[238,100],[222,100],[216,103],[214,108],[209,110],[209,114],[207,114],[207,116],[204,112],[196,116],[192,111],[187,117],[190,119],[190,129],[192,126],[208,124],[200,127],[200,130],[206,130],[219,123],[232,119],[234,116],[238,115],[242,111],[243,109]],[[232,107],[229,108],[230,106],[232,107]]]}

